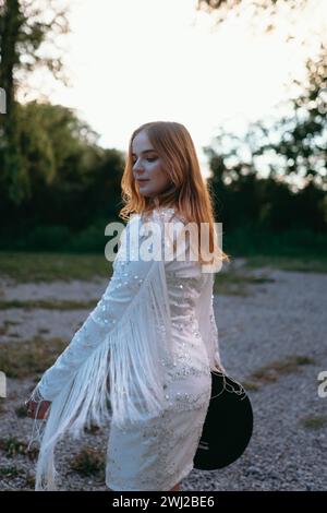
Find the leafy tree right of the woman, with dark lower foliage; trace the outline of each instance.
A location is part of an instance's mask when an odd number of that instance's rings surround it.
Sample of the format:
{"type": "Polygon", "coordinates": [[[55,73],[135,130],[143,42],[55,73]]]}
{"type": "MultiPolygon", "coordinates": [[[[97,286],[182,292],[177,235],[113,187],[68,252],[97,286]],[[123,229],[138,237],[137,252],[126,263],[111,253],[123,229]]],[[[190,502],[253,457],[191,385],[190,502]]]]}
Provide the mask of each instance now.
{"type": "Polygon", "coordinates": [[[217,214],[228,227],[250,222],[265,228],[326,230],[327,48],[307,61],[302,94],[272,123],[252,123],[244,138],[221,128],[209,156],[217,214]],[[266,178],[259,177],[266,166],[266,178]]]}

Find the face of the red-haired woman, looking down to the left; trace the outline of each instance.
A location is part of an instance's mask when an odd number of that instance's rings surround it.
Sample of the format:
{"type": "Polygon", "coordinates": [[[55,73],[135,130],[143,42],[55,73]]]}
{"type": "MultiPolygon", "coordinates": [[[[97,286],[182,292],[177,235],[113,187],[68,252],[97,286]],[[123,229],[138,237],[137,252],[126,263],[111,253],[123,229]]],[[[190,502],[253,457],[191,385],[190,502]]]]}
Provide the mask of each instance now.
{"type": "Polygon", "coordinates": [[[133,140],[132,158],[133,176],[142,195],[155,198],[169,187],[170,181],[161,168],[159,155],[144,130],[133,140]]]}

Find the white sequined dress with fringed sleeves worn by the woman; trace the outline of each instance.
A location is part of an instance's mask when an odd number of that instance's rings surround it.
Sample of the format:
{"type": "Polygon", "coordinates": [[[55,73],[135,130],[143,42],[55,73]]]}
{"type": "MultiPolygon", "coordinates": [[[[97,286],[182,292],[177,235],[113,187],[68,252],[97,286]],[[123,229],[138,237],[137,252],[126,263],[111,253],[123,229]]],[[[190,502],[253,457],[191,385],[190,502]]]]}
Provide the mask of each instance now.
{"type": "MultiPolygon", "coordinates": [[[[173,223],[174,234],[183,227],[173,208],[156,208],[150,220],[161,234],[165,223],[173,223]]],[[[145,224],[140,214],[130,219],[105,294],[32,394],[51,401],[47,420],[34,425],[36,490],[56,489],[58,440],[65,432],[78,437],[90,422],[110,425],[106,484],[112,490],[167,491],[193,468],[210,369],[221,367],[215,274],[178,261],[178,253],[140,259],[137,248],[149,237],[145,224]]]]}

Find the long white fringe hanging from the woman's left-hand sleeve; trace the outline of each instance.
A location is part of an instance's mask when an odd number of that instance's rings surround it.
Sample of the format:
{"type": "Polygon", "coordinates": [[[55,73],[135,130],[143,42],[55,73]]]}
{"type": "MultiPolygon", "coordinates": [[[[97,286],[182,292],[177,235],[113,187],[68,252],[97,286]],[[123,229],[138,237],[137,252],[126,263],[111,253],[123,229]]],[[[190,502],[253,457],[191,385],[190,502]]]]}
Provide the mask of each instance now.
{"type": "MultiPolygon", "coordinates": [[[[144,415],[158,415],[165,398],[162,367],[171,357],[170,308],[160,260],[154,261],[117,326],[52,401],[46,426],[35,420],[37,434],[31,443],[40,443],[35,489],[57,489],[55,448],[64,433],[78,438],[90,423],[111,420],[123,428],[144,420],[144,415]]],[[[40,398],[37,387],[33,396],[40,398]]]]}

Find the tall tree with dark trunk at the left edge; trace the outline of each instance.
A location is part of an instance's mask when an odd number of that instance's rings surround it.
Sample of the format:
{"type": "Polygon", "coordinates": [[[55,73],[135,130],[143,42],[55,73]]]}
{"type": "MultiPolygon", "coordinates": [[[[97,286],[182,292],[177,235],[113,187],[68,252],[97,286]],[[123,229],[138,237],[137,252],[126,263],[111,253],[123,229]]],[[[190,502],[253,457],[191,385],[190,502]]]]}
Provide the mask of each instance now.
{"type": "Polygon", "coordinates": [[[44,44],[69,31],[66,7],[55,0],[0,0],[0,86],[7,94],[7,114],[0,127],[1,188],[8,200],[20,204],[28,195],[27,171],[20,153],[16,91],[26,73],[46,68],[65,80],[60,57],[43,52],[44,44]]]}

